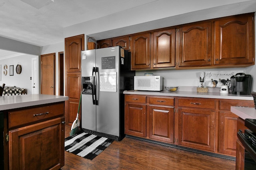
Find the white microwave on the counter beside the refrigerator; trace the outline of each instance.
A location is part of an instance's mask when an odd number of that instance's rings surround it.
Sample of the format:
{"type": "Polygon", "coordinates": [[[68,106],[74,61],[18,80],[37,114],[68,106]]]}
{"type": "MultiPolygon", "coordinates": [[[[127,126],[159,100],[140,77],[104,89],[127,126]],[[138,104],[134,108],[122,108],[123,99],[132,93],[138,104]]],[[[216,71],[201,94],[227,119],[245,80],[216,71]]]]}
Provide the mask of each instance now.
{"type": "Polygon", "coordinates": [[[134,90],[163,90],[163,77],[161,76],[134,76],[134,90]]]}

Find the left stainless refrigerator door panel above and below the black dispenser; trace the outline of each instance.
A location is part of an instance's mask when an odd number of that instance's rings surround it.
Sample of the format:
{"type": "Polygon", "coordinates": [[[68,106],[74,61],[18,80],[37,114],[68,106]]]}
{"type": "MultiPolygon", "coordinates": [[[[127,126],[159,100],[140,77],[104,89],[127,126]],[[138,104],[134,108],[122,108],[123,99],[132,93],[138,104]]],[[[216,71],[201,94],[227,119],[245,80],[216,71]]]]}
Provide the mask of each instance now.
{"type": "MultiPolygon", "coordinates": [[[[82,77],[92,76],[95,64],[95,50],[82,51],[82,77]]],[[[92,94],[82,94],[82,128],[96,131],[96,105],[92,102],[92,94]]]]}

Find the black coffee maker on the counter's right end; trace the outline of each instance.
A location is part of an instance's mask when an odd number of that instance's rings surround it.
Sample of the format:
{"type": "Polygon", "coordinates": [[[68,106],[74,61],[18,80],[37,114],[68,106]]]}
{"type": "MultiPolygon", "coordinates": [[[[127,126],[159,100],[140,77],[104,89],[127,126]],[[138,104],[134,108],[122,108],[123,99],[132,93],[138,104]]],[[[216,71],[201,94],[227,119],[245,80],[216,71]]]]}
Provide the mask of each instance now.
{"type": "Polygon", "coordinates": [[[252,76],[250,74],[237,73],[230,79],[232,94],[251,94],[252,76]]]}

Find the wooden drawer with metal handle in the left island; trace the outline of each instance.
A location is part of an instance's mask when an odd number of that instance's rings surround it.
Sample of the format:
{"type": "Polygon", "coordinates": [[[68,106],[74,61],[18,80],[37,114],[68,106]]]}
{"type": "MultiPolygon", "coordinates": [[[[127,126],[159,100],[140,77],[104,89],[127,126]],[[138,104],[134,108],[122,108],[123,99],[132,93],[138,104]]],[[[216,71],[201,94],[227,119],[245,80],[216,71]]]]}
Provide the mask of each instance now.
{"type": "Polygon", "coordinates": [[[64,103],[53,104],[49,106],[35,107],[8,113],[8,127],[17,127],[20,125],[30,124],[37,121],[46,120],[52,117],[64,116],[64,103]]]}

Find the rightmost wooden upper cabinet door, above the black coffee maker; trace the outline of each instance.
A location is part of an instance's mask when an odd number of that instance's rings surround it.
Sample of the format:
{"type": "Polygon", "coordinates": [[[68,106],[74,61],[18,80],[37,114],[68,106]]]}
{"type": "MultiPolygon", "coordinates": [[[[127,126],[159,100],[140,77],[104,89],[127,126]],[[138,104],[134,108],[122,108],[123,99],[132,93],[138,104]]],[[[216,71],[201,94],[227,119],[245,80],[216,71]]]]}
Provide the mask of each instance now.
{"type": "Polygon", "coordinates": [[[216,20],[214,64],[254,63],[254,14],[216,20]]]}

